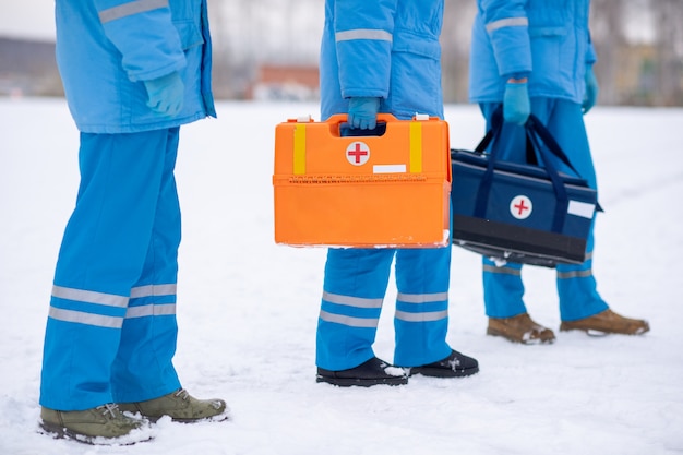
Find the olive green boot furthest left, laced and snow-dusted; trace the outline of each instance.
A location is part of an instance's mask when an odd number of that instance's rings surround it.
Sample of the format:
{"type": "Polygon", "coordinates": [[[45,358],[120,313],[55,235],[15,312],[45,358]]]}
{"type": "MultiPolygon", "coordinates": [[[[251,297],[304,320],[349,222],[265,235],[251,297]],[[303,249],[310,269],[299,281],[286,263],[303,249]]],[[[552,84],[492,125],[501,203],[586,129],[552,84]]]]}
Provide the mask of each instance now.
{"type": "Polygon", "coordinates": [[[152,439],[149,422],[124,416],[117,405],[85,410],[40,409],[40,428],[55,438],[86,444],[134,444],[152,439]]]}

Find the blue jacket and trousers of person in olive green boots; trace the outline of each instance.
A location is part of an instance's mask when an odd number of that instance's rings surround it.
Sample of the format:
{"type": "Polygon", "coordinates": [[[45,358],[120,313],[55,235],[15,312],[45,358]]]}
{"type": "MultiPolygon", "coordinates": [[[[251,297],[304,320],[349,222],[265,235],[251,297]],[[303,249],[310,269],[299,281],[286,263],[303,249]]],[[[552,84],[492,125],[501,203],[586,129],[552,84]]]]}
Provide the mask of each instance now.
{"type": "Polygon", "coordinates": [[[176,283],[181,124],[215,117],[205,0],[57,0],[57,62],[81,131],[81,183],[45,335],[40,405],[83,410],[180,387],[176,283]],[[182,110],[145,81],[179,72],[182,110]]]}

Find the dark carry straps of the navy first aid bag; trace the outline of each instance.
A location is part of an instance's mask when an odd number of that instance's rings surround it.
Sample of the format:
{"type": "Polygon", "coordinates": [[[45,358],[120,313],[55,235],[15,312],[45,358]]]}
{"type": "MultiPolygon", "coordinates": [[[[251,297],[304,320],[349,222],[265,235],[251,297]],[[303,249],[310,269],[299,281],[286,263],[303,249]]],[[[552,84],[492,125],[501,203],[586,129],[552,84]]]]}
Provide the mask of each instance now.
{"type": "MultiPolygon", "coordinates": [[[[479,142],[477,147],[475,148],[475,153],[483,154],[489,144],[498,140],[500,136],[500,132],[503,128],[503,108],[502,106],[495,109],[493,115],[491,116],[491,128],[487,131],[484,137],[479,142]]],[[[536,159],[536,154],[534,151],[538,151],[541,159],[543,160],[543,165],[546,171],[548,172],[548,177],[550,178],[555,197],[558,200],[558,204],[555,206],[555,216],[553,218],[553,232],[561,232],[562,227],[564,225],[564,218],[567,213],[568,207],[568,196],[566,193],[566,189],[564,188],[564,182],[560,177],[558,170],[552,165],[552,160],[549,159],[548,152],[544,147],[542,147],[541,142],[546,144],[548,151],[560,158],[562,163],[564,163],[570,169],[572,169],[577,177],[580,178],[580,175],[576,171],[572,163],[567,158],[566,154],[560,147],[560,144],[554,140],[552,134],[546,129],[546,127],[541,123],[541,121],[534,115],[529,116],[529,119],[525,123],[526,130],[526,158],[527,164],[529,165],[538,165],[538,160],[536,159]],[[539,141],[540,140],[540,141],[539,141]]],[[[487,166],[487,170],[484,171],[481,182],[479,184],[479,191],[477,192],[477,201],[475,203],[475,216],[479,218],[486,218],[486,209],[487,202],[489,200],[489,193],[491,192],[491,187],[493,184],[493,172],[495,170],[495,163],[498,161],[498,151],[495,147],[491,147],[491,153],[489,153],[489,163],[487,166]]]]}

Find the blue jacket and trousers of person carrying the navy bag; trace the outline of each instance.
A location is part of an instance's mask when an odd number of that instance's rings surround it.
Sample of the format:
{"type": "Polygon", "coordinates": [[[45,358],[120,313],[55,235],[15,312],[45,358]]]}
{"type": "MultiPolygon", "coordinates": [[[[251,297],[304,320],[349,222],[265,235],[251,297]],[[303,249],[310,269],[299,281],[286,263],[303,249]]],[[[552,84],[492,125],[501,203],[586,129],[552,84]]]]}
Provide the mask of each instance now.
{"type": "MultiPolygon", "coordinates": [[[[571,163],[597,190],[596,171],[583,119],[586,67],[596,61],[588,28],[589,0],[478,0],[470,52],[470,100],[479,103],[490,124],[503,101],[510,77],[528,76],[531,112],[553,134],[571,163]]],[[[496,146],[502,159],[525,161],[522,127],[505,123],[496,146]]],[[[573,173],[560,160],[554,165],[573,173]]],[[[594,215],[595,225],[595,215],[594,215]]],[[[608,304],[592,275],[592,228],[587,260],[558,265],[560,316],[574,321],[608,304]]],[[[487,315],[512,318],[526,312],[522,265],[496,266],[483,259],[487,315]]]]}

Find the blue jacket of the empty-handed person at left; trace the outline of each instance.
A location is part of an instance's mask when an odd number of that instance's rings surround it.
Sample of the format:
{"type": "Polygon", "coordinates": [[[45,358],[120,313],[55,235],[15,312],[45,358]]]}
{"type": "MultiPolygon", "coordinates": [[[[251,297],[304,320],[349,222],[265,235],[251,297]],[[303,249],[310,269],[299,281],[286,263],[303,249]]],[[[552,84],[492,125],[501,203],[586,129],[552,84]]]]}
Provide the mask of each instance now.
{"type": "Polygon", "coordinates": [[[82,132],[130,133],[215,117],[206,0],[56,0],[57,63],[82,132]],[[147,106],[143,81],[179,71],[182,111],[147,106]]]}

